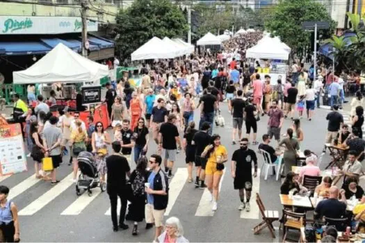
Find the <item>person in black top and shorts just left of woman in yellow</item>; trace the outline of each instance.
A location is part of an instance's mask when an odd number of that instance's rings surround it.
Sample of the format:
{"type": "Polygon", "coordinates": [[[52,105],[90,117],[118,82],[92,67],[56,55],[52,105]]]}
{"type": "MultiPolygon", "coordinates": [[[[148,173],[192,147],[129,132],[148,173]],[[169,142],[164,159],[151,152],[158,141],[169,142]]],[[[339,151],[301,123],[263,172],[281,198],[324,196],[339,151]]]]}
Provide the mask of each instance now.
{"type": "Polygon", "coordinates": [[[206,187],[204,183],[205,179],[205,165],[206,159],[202,158],[202,153],[206,146],[211,143],[211,135],[209,135],[208,131],[211,128],[211,124],[209,122],[204,122],[202,124],[202,128],[200,131],[195,133],[191,144],[196,146],[195,149],[195,167],[197,167],[197,177],[195,179],[195,187],[200,187],[204,189],[206,187]],[[200,181],[200,185],[199,185],[200,181]]]}

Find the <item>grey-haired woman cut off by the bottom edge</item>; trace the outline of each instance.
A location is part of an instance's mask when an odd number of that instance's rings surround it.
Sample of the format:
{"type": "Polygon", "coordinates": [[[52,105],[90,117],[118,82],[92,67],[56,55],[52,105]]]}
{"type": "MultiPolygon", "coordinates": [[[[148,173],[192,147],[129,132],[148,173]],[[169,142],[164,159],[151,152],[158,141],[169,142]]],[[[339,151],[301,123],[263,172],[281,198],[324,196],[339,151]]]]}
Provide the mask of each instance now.
{"type": "Polygon", "coordinates": [[[175,242],[185,243],[189,242],[184,236],[184,228],[181,225],[180,220],[177,217],[170,217],[165,222],[165,231],[159,236],[159,242],[175,242]]]}

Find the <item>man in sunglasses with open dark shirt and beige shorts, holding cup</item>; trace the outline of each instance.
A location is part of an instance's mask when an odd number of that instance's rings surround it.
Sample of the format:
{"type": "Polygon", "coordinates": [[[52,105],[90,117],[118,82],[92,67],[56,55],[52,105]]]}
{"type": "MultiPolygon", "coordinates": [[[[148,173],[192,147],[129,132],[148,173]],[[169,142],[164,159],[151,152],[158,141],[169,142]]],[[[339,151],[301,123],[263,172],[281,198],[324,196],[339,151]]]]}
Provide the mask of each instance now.
{"type": "Polygon", "coordinates": [[[145,183],[147,204],[145,206],[146,229],[156,226],[154,242],[161,235],[163,228],[163,215],[168,207],[168,178],[161,169],[161,156],[152,154],[149,158],[149,174],[145,183]]]}

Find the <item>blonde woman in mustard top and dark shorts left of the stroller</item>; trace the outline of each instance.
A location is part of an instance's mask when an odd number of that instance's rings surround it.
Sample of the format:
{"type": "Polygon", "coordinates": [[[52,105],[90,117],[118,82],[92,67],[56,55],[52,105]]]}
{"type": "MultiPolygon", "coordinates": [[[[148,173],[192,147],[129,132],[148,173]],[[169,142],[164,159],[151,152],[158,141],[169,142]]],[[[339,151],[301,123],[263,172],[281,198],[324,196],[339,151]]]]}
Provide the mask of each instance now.
{"type": "Polygon", "coordinates": [[[88,133],[83,130],[80,120],[75,121],[76,129],[72,130],[70,144],[72,144],[72,165],[74,171],[74,182],[76,182],[77,170],[79,169],[79,163],[77,162],[77,156],[79,153],[86,151],[85,142],[88,140],[88,133]]]}

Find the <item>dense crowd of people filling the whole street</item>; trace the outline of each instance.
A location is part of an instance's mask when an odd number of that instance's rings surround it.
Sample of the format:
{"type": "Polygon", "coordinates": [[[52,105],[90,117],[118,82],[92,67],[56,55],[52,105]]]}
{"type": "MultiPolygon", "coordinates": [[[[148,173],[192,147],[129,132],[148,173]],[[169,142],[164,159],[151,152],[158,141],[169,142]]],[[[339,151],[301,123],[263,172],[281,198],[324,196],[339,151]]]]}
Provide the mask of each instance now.
{"type": "MultiPolygon", "coordinates": [[[[352,110],[350,132],[337,111],[337,104],[341,104],[339,97],[343,97],[341,78],[333,78],[337,76],[332,74],[332,81],[323,83],[321,75],[324,67],[314,78],[310,70],[294,63],[285,80],[279,76],[274,82],[277,84],[272,85],[271,77],[259,74],[257,69],[260,65],[270,66],[270,63],[260,64],[245,58],[245,50],[261,37],[259,32],[241,35],[225,42],[225,50],[218,53],[192,54],[179,60],[143,64],[140,87],[132,87],[124,79],[116,87],[107,83],[104,102],[108,107],[111,128],[105,127],[101,121],[95,122],[92,116],[85,123],[78,111],[68,107],[58,110],[55,116],[41,94],[36,97],[35,108],[24,108],[15,94],[15,111],[26,121],[24,132],[28,135],[29,156],[35,161],[36,178],[50,181],[51,185],[59,183],[56,170],[67,156],[74,173],[72,180],[76,183],[79,171],[77,156],[89,151],[95,156],[101,183],[107,185],[113,231],[129,228],[124,224],[127,219],[133,221],[132,234],[138,235],[138,223],[145,219],[147,229],[155,227],[156,242],[187,242],[179,219],[175,217],[166,221],[163,232],[169,179],[173,177],[177,153],[185,152],[188,183],[194,183],[197,188],[207,188],[210,192],[213,211],[218,210],[219,184],[225,162],[229,159],[234,189],[238,190],[241,201],[238,210],[250,211],[252,178],[257,176],[258,156],[257,151],[248,148],[249,144],[259,144],[259,151],[266,152],[270,162],[283,165],[283,169],[276,171],[285,177],[281,194],[306,190],[302,187],[304,176],[318,176],[320,169],[317,166],[318,156],[305,150],[305,167],[299,175],[291,171],[296,165],[298,151],[305,149],[301,146],[305,131],[300,124],[304,113],[309,121],[313,119],[321,95],[328,92],[333,111],[326,118],[329,121],[326,143],[339,142],[350,147],[342,172],[346,183],[341,190],[341,199],[354,195],[362,198],[363,191],[358,185],[362,169],[359,156],[364,157],[362,152],[365,149],[360,133],[364,123],[361,93],[357,93],[351,102],[355,108],[352,110]],[[227,104],[222,101],[227,101],[227,104]],[[221,123],[217,117],[222,106],[227,106],[232,115],[232,144],[238,142],[240,145],[232,158],[229,158],[226,146],[221,144],[220,135],[213,133],[214,124],[221,123]],[[197,114],[200,114],[200,121],[195,124],[197,114]],[[259,142],[257,130],[262,116],[268,116],[268,131],[259,142]],[[291,119],[292,126],[282,134],[284,119],[291,119]],[[243,124],[246,133],[242,133],[243,124]],[[270,145],[273,138],[275,147],[270,145]],[[151,152],[149,146],[152,143],[156,144],[157,151],[146,157],[147,151],[151,152]],[[42,160],[47,157],[53,163],[49,172],[42,169],[42,160]],[[133,171],[131,163],[136,164],[133,171]],[[118,197],[122,201],[119,219],[116,212],[118,197]],[[131,204],[126,215],[127,201],[131,204]]],[[[30,98],[32,102],[35,99],[33,96],[30,98]]],[[[331,183],[331,178],[323,178],[316,193],[337,199],[339,190],[331,187],[331,183]]],[[[0,188],[0,196],[3,194],[7,195],[8,190],[0,188]]],[[[365,202],[364,197],[362,201],[365,202]]],[[[330,201],[327,204],[323,201],[318,203],[315,212],[320,216],[337,216],[339,209],[343,211],[340,203],[336,201],[327,206],[330,201]],[[329,210],[333,210],[335,215],[329,210]]],[[[364,209],[360,211],[356,212],[362,215],[364,209]]],[[[19,232],[17,227],[15,233],[19,232]]]]}

